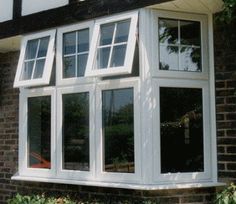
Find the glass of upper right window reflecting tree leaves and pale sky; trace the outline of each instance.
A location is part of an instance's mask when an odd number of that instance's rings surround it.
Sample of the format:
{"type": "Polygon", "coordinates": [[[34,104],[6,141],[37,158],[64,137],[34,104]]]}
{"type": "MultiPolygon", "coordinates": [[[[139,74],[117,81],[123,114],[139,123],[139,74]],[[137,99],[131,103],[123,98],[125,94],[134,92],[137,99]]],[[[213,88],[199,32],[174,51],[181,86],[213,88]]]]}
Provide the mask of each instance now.
{"type": "Polygon", "coordinates": [[[160,70],[201,72],[200,22],[159,19],[160,70]]]}

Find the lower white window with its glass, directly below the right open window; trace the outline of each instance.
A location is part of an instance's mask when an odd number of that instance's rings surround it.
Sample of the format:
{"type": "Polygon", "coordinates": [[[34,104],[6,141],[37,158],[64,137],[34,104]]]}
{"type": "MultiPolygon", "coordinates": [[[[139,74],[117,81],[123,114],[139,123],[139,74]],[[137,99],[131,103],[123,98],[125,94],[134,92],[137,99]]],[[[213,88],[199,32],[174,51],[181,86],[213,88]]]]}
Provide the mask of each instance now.
{"type": "Polygon", "coordinates": [[[96,90],[99,180],[140,183],[139,80],[104,81],[96,90]]]}

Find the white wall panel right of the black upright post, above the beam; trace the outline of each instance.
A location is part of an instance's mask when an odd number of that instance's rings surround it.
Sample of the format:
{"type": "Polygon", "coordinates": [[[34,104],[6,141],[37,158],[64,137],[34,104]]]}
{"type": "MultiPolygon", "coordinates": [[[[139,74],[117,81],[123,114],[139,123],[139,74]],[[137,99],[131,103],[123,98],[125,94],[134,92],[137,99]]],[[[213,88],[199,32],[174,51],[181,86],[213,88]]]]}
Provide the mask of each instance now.
{"type": "Polygon", "coordinates": [[[69,0],[23,0],[21,14],[22,16],[26,16],[28,14],[64,6],[68,3],[69,0]]]}

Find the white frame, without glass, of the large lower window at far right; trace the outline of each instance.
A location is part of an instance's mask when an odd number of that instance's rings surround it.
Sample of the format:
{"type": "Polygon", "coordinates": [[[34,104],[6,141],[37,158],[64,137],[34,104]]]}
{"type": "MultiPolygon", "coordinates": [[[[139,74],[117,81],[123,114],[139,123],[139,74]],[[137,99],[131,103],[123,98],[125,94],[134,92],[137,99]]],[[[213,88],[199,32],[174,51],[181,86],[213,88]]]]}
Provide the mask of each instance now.
{"type": "MultiPolygon", "coordinates": [[[[211,128],[210,128],[210,95],[208,81],[183,79],[154,79],[154,119],[153,119],[153,164],[156,182],[199,182],[211,179],[211,128]],[[202,90],[203,112],[203,155],[204,171],[189,173],[161,173],[161,126],[160,126],[160,87],[171,88],[197,88],[202,90]]],[[[172,108],[172,107],[170,107],[172,108]]],[[[170,154],[174,154],[171,152],[170,154]]]]}

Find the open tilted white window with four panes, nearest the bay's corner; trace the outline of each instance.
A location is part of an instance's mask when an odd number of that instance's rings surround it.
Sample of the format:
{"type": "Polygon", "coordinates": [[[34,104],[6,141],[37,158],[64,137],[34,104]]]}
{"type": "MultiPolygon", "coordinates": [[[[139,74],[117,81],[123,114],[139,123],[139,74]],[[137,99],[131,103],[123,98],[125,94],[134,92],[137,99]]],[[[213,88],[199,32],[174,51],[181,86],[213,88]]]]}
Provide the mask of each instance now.
{"type": "Polygon", "coordinates": [[[137,23],[137,11],[95,22],[86,76],[131,73],[137,23]]]}

